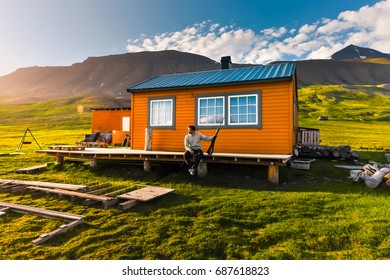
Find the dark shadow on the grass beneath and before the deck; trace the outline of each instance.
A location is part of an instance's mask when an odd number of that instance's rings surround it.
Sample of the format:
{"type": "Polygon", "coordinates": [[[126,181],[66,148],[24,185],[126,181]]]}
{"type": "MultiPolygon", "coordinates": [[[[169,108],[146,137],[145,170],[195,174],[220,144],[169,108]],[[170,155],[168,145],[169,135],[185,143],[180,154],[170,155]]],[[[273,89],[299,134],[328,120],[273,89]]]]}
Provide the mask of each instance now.
{"type": "MultiPolygon", "coordinates": [[[[380,156],[376,155],[375,158],[380,156]]],[[[358,162],[317,159],[311,163],[310,170],[280,167],[279,184],[268,182],[266,166],[254,165],[209,163],[208,174],[204,178],[191,176],[186,166],[182,164],[153,164],[151,172],[145,172],[143,164],[139,162],[102,163],[95,168],[87,164],[67,163],[53,168],[64,172],[89,173],[87,177],[97,181],[135,181],[140,184],[179,189],[215,187],[255,191],[366,193],[389,196],[390,188],[384,183],[376,189],[369,189],[364,182],[354,182],[349,178],[348,169],[336,167],[336,165],[356,165],[359,169],[366,162],[368,162],[366,159],[358,162]]]]}

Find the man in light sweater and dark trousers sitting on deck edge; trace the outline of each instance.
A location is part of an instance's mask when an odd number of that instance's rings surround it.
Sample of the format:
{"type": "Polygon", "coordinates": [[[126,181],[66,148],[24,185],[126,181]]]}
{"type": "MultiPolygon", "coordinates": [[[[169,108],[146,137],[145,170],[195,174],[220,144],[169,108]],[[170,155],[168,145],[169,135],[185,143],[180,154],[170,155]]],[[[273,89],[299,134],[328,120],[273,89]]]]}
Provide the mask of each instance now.
{"type": "Polygon", "coordinates": [[[201,140],[210,142],[214,136],[205,136],[202,133],[196,131],[196,127],[190,125],[187,127],[188,134],[184,137],[184,147],[186,152],[184,153],[184,160],[188,165],[188,172],[191,175],[195,175],[195,171],[203,158],[201,140]],[[191,160],[194,158],[194,163],[191,160]]]}

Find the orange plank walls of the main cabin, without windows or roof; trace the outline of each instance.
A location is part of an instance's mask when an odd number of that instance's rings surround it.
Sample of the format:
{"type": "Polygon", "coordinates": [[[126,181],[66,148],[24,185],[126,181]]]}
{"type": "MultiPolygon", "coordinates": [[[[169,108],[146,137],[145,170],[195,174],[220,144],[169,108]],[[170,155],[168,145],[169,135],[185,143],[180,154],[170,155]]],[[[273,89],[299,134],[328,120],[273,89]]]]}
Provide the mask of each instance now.
{"type": "MultiPolygon", "coordinates": [[[[144,149],[145,129],[148,127],[148,98],[175,96],[175,130],[152,129],[152,149],[184,151],[187,126],[195,124],[196,96],[260,90],[261,129],[222,128],[214,152],[292,154],[295,128],[298,126],[295,81],[278,81],[245,86],[212,87],[186,90],[139,92],[132,95],[132,149],[144,149]],[[294,109],[295,107],[295,109],[294,109]]],[[[212,129],[199,129],[211,136],[212,129]]],[[[203,150],[209,147],[202,142],[203,150]]]]}

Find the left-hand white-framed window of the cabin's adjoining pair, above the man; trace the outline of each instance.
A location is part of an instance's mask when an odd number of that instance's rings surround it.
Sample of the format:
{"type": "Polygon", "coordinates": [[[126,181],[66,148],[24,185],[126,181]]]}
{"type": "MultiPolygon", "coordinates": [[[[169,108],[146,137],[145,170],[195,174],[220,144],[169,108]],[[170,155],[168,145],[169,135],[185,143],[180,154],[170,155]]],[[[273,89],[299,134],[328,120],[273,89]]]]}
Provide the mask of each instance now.
{"type": "Polygon", "coordinates": [[[198,124],[216,125],[224,119],[224,97],[206,97],[198,99],[198,124]]]}

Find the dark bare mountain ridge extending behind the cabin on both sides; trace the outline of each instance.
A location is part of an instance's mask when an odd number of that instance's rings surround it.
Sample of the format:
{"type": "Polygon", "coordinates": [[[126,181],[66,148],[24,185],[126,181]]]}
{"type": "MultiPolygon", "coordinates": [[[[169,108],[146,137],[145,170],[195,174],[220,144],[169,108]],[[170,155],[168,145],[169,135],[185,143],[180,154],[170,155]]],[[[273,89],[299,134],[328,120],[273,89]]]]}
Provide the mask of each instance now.
{"type": "MultiPolygon", "coordinates": [[[[390,83],[390,58],[371,63],[348,55],[337,57],[342,59],[297,61],[298,86],[390,83]]],[[[232,68],[246,66],[253,65],[232,64],[232,68]]],[[[157,75],[220,68],[208,57],[174,50],[88,57],[71,66],[21,68],[2,76],[0,98],[2,103],[17,104],[94,95],[104,99],[106,106],[127,107],[126,88],[135,83],[157,75]]]]}

